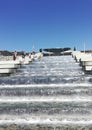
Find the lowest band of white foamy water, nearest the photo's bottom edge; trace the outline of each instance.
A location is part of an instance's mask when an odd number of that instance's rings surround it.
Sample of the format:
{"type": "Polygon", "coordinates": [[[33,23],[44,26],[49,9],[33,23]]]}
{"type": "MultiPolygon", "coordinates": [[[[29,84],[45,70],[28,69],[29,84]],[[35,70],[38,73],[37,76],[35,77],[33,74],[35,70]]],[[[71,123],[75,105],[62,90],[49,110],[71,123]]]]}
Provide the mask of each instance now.
{"type": "Polygon", "coordinates": [[[73,120],[50,120],[50,119],[30,119],[30,120],[25,120],[25,119],[17,119],[17,120],[1,120],[0,121],[0,125],[6,125],[6,124],[20,124],[20,125],[23,125],[23,124],[32,124],[32,125],[37,125],[37,124],[40,124],[40,125],[62,125],[62,124],[71,124],[71,125],[90,125],[92,124],[92,120],[81,120],[81,121],[73,121],[73,120]],[[16,122],[16,123],[15,123],[16,122]]]}

